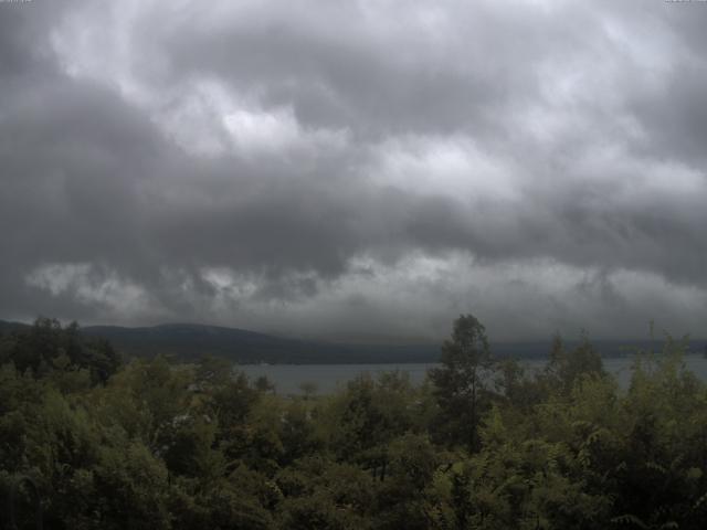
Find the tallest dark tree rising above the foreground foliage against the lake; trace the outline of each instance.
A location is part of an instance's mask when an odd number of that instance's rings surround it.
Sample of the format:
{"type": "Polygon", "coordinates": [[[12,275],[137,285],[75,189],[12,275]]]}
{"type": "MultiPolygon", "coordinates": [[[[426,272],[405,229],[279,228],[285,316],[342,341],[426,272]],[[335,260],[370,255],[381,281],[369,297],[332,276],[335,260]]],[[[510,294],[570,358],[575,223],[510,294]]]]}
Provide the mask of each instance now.
{"type": "Polygon", "coordinates": [[[454,321],[451,340],[442,346],[441,368],[430,370],[440,423],[450,442],[478,449],[479,417],[487,403],[486,382],[494,365],[486,329],[473,315],[454,321]]]}

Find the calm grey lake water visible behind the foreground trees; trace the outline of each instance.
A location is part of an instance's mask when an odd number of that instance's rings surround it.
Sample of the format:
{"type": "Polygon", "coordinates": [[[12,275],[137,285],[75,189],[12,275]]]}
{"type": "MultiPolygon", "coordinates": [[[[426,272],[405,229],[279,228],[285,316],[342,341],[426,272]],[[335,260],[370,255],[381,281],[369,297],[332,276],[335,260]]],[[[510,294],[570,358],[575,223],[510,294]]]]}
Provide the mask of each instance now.
{"type": "MultiPolygon", "coordinates": [[[[521,361],[528,370],[545,367],[545,360],[521,361]]],[[[604,359],[604,368],[613,373],[622,386],[626,386],[631,379],[632,358],[604,359]]],[[[701,356],[686,356],[686,367],[701,379],[707,379],[707,359],[701,356]]],[[[346,383],[360,373],[372,377],[381,372],[400,370],[410,374],[413,383],[421,383],[430,368],[436,363],[423,364],[244,364],[238,367],[249,377],[266,375],[281,394],[302,393],[303,383],[314,383],[318,394],[327,394],[346,386],[346,383]]]]}

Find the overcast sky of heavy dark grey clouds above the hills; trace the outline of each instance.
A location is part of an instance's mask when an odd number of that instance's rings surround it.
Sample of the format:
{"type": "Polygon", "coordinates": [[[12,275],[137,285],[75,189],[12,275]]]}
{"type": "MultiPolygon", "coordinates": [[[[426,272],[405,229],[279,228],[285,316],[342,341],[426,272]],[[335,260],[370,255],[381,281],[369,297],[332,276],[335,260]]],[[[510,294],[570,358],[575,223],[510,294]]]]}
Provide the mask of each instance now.
{"type": "Polygon", "coordinates": [[[707,3],[0,2],[0,318],[707,336],[707,3]]]}

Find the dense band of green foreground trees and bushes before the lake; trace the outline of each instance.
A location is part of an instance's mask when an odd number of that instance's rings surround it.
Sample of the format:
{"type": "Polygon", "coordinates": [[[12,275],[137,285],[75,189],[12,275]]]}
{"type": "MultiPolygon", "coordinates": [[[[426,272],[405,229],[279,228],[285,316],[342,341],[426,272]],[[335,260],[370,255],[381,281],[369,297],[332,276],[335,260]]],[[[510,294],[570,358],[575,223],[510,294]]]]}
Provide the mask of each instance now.
{"type": "Polygon", "coordinates": [[[588,337],[529,373],[474,316],[452,328],[421,385],[314,396],[224,358],[128,359],[75,324],[0,327],[0,528],[35,528],[30,483],[45,529],[705,528],[685,341],[642,344],[620,389],[588,337]]]}

